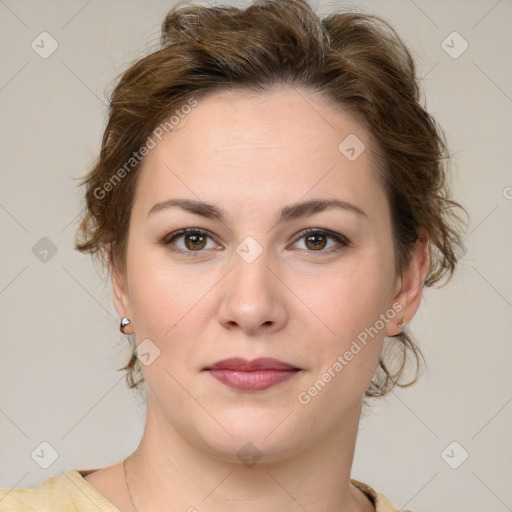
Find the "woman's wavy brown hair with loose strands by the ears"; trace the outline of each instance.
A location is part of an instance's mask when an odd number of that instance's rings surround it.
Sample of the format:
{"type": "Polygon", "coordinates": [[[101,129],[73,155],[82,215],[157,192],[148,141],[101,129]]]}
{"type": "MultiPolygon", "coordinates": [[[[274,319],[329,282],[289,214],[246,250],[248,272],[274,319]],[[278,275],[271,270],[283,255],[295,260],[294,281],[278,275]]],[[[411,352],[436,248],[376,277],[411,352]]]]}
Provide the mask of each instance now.
{"type": "MultiPolygon", "coordinates": [[[[431,259],[425,285],[450,279],[464,209],[449,198],[444,135],[420,104],[411,54],[383,19],[335,13],[321,20],[305,0],[256,0],[245,9],[179,4],[168,13],[160,48],[124,72],[111,94],[99,158],[81,183],[86,211],[76,248],[124,271],[139,150],[155,128],[191,98],[226,89],[265,93],[281,85],[322,94],[367,129],[391,207],[397,272],[424,229],[431,259]]],[[[387,359],[383,351],[367,396],[417,378],[416,371],[400,382],[408,353],[419,368],[413,337],[403,332],[392,341],[400,355],[387,359]]],[[[119,370],[134,388],[143,377],[130,342],[132,356],[119,370]]]]}

